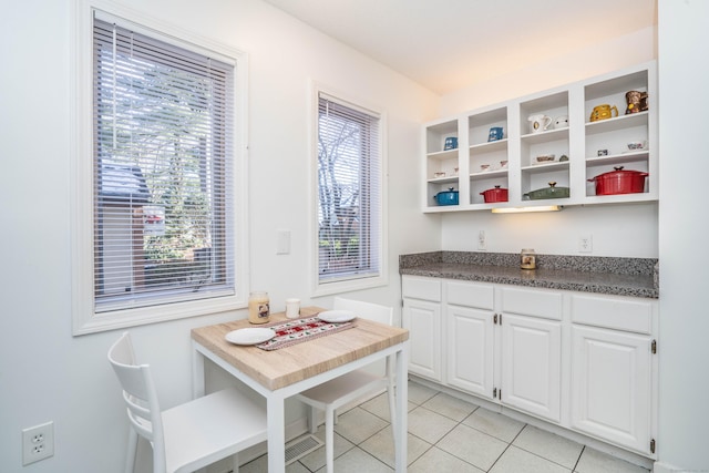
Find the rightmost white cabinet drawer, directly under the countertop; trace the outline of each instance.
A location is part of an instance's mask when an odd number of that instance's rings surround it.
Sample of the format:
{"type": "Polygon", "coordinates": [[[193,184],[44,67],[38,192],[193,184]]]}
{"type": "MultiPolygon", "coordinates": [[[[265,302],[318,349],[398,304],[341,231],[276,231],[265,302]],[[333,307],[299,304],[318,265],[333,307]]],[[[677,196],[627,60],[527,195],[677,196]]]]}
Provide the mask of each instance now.
{"type": "Polygon", "coordinates": [[[574,295],[572,320],[574,323],[649,335],[653,332],[653,306],[649,300],[574,295]]]}

